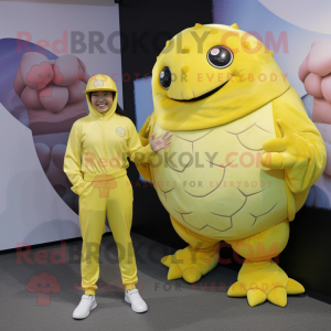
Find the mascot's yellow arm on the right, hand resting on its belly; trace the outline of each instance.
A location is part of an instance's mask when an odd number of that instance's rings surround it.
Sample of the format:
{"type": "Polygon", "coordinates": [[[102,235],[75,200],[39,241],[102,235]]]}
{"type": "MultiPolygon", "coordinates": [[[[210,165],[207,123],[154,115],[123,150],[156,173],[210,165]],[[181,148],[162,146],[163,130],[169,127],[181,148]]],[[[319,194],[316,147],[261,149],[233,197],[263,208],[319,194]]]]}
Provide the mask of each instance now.
{"type": "Polygon", "coordinates": [[[292,193],[309,189],[325,168],[323,139],[309,119],[305,106],[290,87],[273,100],[276,139],[263,146],[260,162],[270,169],[284,169],[285,180],[292,193]]]}

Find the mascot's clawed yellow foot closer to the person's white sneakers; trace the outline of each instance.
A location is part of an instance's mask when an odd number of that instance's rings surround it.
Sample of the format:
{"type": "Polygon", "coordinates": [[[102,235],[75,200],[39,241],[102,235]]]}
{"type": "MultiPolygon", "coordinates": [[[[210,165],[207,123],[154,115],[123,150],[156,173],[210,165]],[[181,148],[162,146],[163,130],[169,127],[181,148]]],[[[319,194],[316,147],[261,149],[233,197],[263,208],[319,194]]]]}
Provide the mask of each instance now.
{"type": "Polygon", "coordinates": [[[192,284],[216,267],[217,259],[215,257],[218,257],[216,245],[200,249],[189,246],[179,249],[174,255],[164,256],[161,263],[169,267],[168,280],[184,278],[192,284]]]}

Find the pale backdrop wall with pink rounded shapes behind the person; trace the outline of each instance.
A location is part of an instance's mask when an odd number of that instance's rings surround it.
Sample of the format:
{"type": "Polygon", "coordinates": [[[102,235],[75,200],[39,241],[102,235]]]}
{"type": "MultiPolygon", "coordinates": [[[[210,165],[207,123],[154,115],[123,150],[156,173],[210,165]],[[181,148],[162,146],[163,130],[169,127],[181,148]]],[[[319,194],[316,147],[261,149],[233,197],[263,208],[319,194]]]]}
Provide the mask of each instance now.
{"type": "Polygon", "coordinates": [[[88,77],[121,76],[114,1],[38,2],[0,1],[0,249],[81,236],[68,134],[88,77]]]}

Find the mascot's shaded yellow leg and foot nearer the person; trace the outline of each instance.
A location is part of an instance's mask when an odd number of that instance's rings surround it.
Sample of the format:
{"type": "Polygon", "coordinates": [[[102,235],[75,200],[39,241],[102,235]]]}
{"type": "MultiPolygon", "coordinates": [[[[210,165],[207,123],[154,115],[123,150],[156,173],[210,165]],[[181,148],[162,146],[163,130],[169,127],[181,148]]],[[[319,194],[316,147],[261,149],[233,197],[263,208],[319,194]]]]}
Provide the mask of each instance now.
{"type": "Polygon", "coordinates": [[[161,263],[169,267],[168,280],[184,278],[188,282],[196,282],[201,276],[216,267],[220,250],[218,241],[197,235],[172,216],[170,218],[175,232],[190,246],[161,259],[161,263]]]}

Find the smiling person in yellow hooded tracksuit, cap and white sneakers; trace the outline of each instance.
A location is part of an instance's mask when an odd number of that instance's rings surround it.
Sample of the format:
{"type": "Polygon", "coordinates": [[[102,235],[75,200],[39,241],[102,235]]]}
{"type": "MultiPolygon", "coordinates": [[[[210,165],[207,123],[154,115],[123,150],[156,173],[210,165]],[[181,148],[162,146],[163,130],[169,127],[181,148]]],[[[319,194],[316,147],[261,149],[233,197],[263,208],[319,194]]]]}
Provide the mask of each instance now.
{"type": "Polygon", "coordinates": [[[130,237],[132,188],[127,177],[127,157],[135,163],[147,162],[171,145],[171,135],[151,139],[141,146],[134,122],[117,104],[115,82],[107,75],[95,75],[87,82],[89,115],[72,127],[64,157],[64,172],[72,191],[79,195],[79,224],[83,237],[82,288],[85,293],[73,312],[84,319],[97,307],[95,291],[99,277],[99,245],[105,233],[105,218],[117,244],[125,300],[135,312],[148,310],[136,289],[137,265],[130,237]]]}

